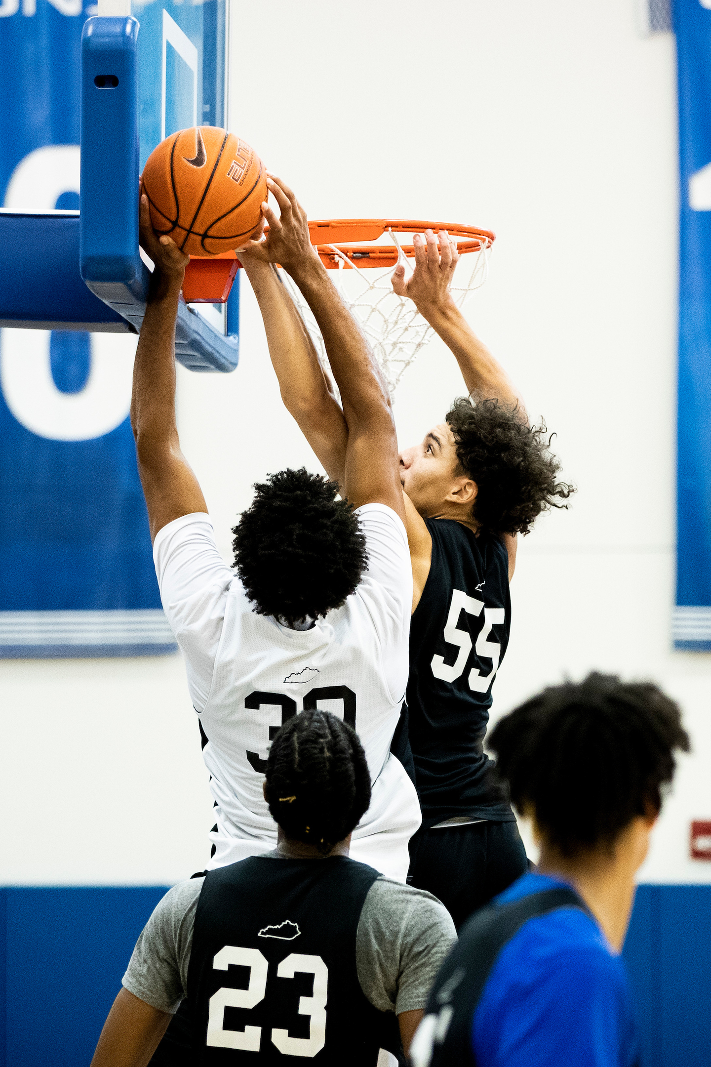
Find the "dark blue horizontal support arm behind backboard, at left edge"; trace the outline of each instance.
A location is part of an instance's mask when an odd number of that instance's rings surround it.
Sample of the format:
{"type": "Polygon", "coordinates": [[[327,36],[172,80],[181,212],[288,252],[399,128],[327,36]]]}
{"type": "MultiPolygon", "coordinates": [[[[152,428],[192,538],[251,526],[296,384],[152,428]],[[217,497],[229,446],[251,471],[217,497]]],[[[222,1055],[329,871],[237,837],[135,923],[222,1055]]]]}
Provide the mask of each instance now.
{"type": "Polygon", "coordinates": [[[81,280],[78,216],[0,212],[0,320],[129,329],[81,280]]]}

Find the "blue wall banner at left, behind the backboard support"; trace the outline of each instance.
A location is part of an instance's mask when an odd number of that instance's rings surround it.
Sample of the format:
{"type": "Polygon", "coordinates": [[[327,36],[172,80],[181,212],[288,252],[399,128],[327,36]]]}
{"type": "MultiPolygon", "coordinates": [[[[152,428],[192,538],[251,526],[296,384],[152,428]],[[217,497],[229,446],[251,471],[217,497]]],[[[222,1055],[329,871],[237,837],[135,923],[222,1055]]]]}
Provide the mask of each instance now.
{"type": "MultiPolygon", "coordinates": [[[[96,13],[0,0],[6,209],[79,208],[81,31],[96,13]]],[[[0,657],[176,648],[128,419],[134,350],[120,334],[0,331],[0,657]]]]}

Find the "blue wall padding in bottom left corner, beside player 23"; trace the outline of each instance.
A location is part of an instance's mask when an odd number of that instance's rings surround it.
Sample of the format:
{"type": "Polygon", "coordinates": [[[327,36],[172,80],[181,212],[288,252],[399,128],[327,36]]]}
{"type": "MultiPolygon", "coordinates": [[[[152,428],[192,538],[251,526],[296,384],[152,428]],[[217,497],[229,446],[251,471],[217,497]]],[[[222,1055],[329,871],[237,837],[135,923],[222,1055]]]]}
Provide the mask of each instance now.
{"type": "Polygon", "coordinates": [[[0,891],[6,904],[5,1067],[88,1067],[136,938],[165,891],[0,891]]]}

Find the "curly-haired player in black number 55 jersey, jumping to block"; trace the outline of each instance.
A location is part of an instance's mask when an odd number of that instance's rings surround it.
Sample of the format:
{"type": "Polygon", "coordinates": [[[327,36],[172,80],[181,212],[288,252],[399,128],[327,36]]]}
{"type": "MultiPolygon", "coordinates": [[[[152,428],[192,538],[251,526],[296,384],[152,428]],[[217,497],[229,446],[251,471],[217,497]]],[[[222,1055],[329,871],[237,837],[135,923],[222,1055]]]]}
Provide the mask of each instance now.
{"type": "MultiPolygon", "coordinates": [[[[273,212],[263,211],[271,225],[273,212]]],[[[454,304],[456,244],[445,232],[439,238],[441,252],[432,230],[426,241],[416,234],[413,275],[405,282],[399,267],[392,278],[452,350],[472,398],[456,400],[421,444],[400,453],[414,577],[409,743],[422,806],[408,880],[439,897],[458,926],[527,866],[483,740],[508,642],[516,537],[542,511],[561,507],[556,499],[572,487],[556,480],[546,427],[529,425],[519,394],[454,304]]],[[[249,246],[239,257],[285,403],[340,482],[349,426],[316,350],[278,275],[249,246]]]]}

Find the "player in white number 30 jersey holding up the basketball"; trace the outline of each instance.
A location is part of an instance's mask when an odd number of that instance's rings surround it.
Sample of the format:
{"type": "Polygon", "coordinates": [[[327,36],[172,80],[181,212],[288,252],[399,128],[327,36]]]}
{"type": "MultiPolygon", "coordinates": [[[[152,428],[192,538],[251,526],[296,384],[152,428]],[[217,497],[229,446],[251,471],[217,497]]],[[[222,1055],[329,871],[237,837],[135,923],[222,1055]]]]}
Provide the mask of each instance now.
{"type": "Polygon", "coordinates": [[[175,423],[175,318],[188,257],[150,226],[156,264],[133,377],[136,439],[163,606],[185,658],[215,805],[210,866],[270,851],[276,826],[262,794],[271,738],[302,710],[355,727],[372,802],[352,855],[405,879],[420,825],[415,787],[390,754],[408,673],[413,578],[387,387],[358,327],[313,252],[306,214],[280,181],[281,209],[257,253],[279,262],[323,332],[349,425],[344,492],[306,471],[256,487],[235,528],[232,570],[217,552],[175,423]],[[352,510],[355,508],[355,511],[352,510]]]}

